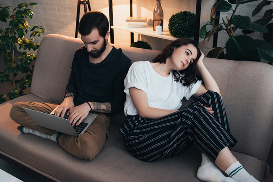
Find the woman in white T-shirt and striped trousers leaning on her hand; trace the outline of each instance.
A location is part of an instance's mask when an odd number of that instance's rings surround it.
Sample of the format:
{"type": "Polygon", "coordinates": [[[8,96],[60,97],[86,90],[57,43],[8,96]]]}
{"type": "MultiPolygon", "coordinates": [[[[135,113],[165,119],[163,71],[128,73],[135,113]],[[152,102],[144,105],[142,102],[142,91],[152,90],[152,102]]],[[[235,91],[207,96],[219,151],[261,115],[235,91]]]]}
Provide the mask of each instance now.
{"type": "Polygon", "coordinates": [[[230,152],[237,141],[230,134],[219,87],[203,58],[196,42],[181,38],[153,62],[132,64],[124,82],[127,120],[120,129],[127,150],[152,162],[194,144],[202,151],[200,180],[257,181],[230,152]],[[196,97],[193,103],[178,110],[181,100],[191,96],[196,97]]]}

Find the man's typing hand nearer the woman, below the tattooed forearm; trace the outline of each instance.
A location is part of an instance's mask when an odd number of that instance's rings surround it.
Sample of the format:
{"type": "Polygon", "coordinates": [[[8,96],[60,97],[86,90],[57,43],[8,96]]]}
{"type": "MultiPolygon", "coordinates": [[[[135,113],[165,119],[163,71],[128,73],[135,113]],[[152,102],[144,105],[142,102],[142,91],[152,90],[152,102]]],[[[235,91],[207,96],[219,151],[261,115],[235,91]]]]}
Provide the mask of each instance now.
{"type": "Polygon", "coordinates": [[[90,111],[90,107],[83,103],[79,106],[75,106],[68,112],[68,121],[74,125],[79,125],[88,115],[90,111]]]}

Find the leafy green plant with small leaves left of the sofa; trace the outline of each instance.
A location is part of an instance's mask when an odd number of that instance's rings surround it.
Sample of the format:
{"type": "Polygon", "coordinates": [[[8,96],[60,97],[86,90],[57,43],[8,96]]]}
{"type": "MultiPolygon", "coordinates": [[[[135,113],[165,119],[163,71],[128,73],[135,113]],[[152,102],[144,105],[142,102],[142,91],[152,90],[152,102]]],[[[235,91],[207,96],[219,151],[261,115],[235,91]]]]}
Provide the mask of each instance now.
{"type": "Polygon", "coordinates": [[[35,61],[36,55],[23,51],[20,57],[15,56],[15,51],[36,50],[40,43],[35,42],[35,36],[44,33],[44,27],[28,24],[26,19],[31,20],[33,11],[29,7],[35,7],[37,3],[20,3],[16,8],[10,11],[9,6],[0,6],[0,21],[7,22],[5,30],[0,29],[0,54],[3,56],[5,69],[0,72],[0,82],[8,82],[12,89],[6,94],[0,94],[0,103],[3,103],[8,97],[14,99],[24,95],[24,90],[31,86],[33,67],[30,64],[35,61]],[[29,33],[29,37],[26,34],[29,33]],[[20,78],[18,78],[20,77],[20,78]]]}

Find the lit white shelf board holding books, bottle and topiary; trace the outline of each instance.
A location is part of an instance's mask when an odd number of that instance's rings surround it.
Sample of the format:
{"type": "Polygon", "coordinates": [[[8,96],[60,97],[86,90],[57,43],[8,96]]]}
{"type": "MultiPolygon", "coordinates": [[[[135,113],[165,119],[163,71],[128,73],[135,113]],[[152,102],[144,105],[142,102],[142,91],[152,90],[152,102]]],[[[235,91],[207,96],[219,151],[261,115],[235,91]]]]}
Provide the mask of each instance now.
{"type": "Polygon", "coordinates": [[[147,36],[151,36],[151,37],[162,38],[162,39],[166,39],[166,40],[176,40],[177,39],[177,38],[170,35],[169,30],[163,30],[163,32],[161,32],[161,35],[155,34],[155,31],[153,31],[152,26],[146,26],[146,27],[141,27],[141,28],[126,28],[124,25],[116,25],[116,26],[111,26],[111,28],[125,30],[125,31],[138,33],[141,35],[147,35],[147,36]]]}

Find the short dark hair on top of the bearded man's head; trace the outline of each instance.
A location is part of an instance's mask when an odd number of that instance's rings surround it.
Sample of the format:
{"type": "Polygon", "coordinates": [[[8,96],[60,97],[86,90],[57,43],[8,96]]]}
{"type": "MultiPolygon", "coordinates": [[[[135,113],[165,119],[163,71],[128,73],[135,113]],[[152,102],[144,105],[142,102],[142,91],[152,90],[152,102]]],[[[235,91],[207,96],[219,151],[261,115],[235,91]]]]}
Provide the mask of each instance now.
{"type": "Polygon", "coordinates": [[[101,37],[105,37],[107,31],[109,30],[109,21],[101,12],[86,12],[79,22],[79,33],[86,36],[89,35],[94,28],[98,29],[101,37]]]}

